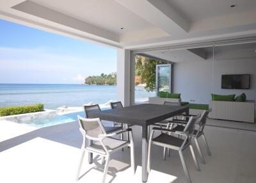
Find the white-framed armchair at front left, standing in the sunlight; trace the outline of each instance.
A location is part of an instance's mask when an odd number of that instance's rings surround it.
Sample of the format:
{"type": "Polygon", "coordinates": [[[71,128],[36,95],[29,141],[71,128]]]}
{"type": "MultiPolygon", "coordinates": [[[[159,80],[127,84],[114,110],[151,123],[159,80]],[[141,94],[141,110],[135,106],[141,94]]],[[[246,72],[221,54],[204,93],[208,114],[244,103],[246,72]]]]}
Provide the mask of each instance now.
{"type": "MultiPolygon", "coordinates": [[[[88,151],[92,154],[100,155],[101,157],[106,158],[104,175],[102,179],[102,183],[106,180],[106,175],[108,173],[108,164],[111,159],[111,154],[118,150],[121,150],[124,147],[131,147],[131,168],[134,173],[134,144],[132,138],[132,129],[125,129],[119,132],[113,132],[111,134],[106,134],[106,131],[102,125],[102,122],[99,118],[82,118],[81,116],[77,116],[78,122],[80,125],[79,130],[83,134],[83,145],[81,147],[82,154],[80,163],[77,170],[76,179],[79,180],[79,174],[81,171],[81,167],[83,164],[83,158],[85,151],[88,151]],[[124,141],[120,139],[113,138],[117,134],[121,134],[124,132],[129,132],[130,141],[124,141]],[[92,140],[93,143],[90,145],[86,145],[86,139],[92,140]]],[[[102,158],[104,159],[104,158],[102,158]]]]}

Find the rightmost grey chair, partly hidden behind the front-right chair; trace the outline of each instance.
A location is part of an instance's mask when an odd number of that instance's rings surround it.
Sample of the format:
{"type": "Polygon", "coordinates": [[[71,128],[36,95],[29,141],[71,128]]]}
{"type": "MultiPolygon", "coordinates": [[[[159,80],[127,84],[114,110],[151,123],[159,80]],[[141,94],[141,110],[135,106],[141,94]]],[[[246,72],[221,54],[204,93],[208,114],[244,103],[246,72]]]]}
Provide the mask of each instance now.
{"type": "MultiPolygon", "coordinates": [[[[205,110],[202,113],[202,115],[198,119],[198,122],[196,122],[196,125],[198,125],[198,127],[196,128],[196,130],[194,131],[194,134],[193,134],[193,139],[195,140],[196,148],[198,150],[200,159],[203,164],[205,164],[205,159],[204,159],[204,155],[202,153],[202,150],[200,148],[200,145],[199,145],[197,139],[200,138],[200,136],[202,136],[202,138],[204,139],[206,149],[207,149],[207,154],[211,155],[211,151],[210,151],[209,145],[207,143],[207,140],[206,140],[205,134],[204,134],[204,127],[205,127],[206,119],[210,112],[211,112],[211,108],[209,110],[205,110]]],[[[187,118],[187,117],[191,117],[191,115],[184,116],[184,118],[187,118]]],[[[184,125],[186,125],[187,123],[188,123],[188,121],[186,121],[186,120],[173,120],[172,122],[170,122],[168,124],[168,128],[173,129],[173,131],[183,131],[185,129],[184,125]],[[173,127],[173,125],[176,125],[176,126],[173,127]]]]}

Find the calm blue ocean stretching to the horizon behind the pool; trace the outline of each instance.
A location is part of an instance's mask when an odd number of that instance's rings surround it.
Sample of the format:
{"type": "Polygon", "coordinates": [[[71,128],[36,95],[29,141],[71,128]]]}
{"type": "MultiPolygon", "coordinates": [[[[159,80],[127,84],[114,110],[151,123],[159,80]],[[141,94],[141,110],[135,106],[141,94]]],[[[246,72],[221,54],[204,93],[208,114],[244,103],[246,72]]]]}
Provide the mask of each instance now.
{"type": "MultiPolygon", "coordinates": [[[[142,102],[155,92],[136,86],[135,101],[142,102]]],[[[45,109],[83,104],[104,104],[116,100],[116,86],[83,84],[0,84],[0,107],[42,103],[45,109]]]]}

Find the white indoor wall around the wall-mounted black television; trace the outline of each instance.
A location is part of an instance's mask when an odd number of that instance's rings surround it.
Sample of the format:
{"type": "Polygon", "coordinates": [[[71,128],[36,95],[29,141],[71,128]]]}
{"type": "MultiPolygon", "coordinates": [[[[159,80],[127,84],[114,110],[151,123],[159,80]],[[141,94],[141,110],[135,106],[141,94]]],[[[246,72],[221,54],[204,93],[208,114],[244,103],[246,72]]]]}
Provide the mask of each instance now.
{"type": "Polygon", "coordinates": [[[205,61],[175,63],[173,69],[173,92],[181,93],[182,101],[209,104],[211,93],[245,93],[247,99],[256,100],[256,54],[255,52],[215,52],[205,61]],[[246,55],[245,55],[246,54],[246,55]],[[251,74],[250,90],[221,89],[222,74],[251,74]]]}

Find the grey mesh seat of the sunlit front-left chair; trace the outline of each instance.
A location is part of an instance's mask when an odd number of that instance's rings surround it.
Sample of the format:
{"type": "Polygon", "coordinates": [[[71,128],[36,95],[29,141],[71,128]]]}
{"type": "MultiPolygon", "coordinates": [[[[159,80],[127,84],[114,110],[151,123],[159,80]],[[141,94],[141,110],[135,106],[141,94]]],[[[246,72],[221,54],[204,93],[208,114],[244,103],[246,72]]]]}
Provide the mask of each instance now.
{"type": "MultiPolygon", "coordinates": [[[[111,152],[118,148],[122,148],[129,143],[129,141],[124,141],[124,140],[115,139],[115,138],[104,138],[102,142],[108,149],[108,152],[111,152]]],[[[102,147],[102,144],[99,141],[93,142],[92,145],[86,147],[86,149],[92,150],[94,152],[98,152],[100,154],[106,154],[104,148],[102,147]]]]}

